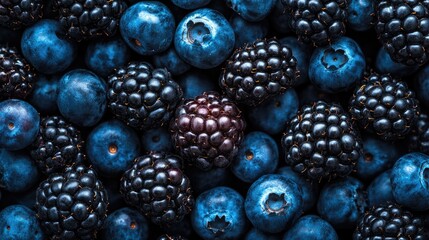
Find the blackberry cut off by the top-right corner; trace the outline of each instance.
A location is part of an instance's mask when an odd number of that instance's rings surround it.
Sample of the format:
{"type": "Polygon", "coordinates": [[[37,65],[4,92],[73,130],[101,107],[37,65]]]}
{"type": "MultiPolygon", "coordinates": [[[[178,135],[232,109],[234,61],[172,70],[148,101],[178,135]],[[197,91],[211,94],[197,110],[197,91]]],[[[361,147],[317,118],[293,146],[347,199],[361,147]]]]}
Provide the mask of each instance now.
{"type": "Polygon", "coordinates": [[[390,57],[406,65],[421,65],[429,56],[429,1],[378,2],[375,30],[390,57]]]}

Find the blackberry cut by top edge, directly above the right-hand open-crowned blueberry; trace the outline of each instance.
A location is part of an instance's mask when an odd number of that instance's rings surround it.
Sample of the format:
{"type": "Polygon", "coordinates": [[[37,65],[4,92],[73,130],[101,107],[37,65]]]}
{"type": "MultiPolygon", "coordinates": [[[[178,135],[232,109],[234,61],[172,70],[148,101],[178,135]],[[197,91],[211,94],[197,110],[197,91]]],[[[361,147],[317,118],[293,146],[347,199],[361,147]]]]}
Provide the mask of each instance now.
{"type": "Polygon", "coordinates": [[[347,0],[281,0],[298,39],[321,47],[346,32],[347,0]]]}

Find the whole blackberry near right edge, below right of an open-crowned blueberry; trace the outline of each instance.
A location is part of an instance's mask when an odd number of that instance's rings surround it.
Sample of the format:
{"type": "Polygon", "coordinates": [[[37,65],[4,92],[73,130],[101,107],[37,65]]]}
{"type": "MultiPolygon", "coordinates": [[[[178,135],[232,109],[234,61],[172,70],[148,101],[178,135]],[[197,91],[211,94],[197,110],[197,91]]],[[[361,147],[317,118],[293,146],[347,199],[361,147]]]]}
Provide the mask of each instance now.
{"type": "Polygon", "coordinates": [[[377,73],[364,78],[349,107],[354,122],[388,141],[404,138],[419,114],[418,100],[405,82],[377,73]]]}

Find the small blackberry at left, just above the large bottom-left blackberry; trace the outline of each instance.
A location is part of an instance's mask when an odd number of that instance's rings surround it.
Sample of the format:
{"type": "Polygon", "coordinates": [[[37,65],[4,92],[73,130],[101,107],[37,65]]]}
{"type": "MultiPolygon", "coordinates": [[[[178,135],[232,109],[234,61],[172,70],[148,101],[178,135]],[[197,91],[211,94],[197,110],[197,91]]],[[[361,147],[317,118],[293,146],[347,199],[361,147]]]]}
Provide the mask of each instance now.
{"type": "Polygon", "coordinates": [[[60,116],[44,118],[31,146],[31,157],[45,174],[62,172],[85,159],[79,130],[60,116]]]}

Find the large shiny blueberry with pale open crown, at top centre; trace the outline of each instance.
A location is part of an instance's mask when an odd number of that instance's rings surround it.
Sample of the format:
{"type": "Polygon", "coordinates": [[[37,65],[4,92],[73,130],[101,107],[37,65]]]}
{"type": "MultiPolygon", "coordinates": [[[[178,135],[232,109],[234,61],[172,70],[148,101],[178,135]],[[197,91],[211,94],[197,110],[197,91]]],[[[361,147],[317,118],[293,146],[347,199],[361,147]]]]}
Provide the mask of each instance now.
{"type": "Polygon", "coordinates": [[[234,49],[231,25],[219,12],[202,8],[186,15],[179,23],[174,46],[179,56],[194,67],[219,66],[234,49]]]}

